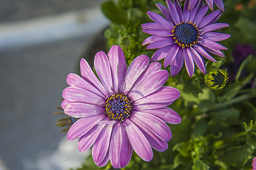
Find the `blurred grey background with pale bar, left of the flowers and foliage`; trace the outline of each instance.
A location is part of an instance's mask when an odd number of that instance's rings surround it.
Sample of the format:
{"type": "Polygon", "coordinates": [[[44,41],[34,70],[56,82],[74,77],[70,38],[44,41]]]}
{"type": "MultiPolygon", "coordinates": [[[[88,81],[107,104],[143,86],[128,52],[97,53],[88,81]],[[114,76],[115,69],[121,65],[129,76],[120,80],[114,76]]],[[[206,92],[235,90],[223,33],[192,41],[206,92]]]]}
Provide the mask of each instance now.
{"type": "Polygon", "coordinates": [[[0,170],[80,167],[55,126],[68,73],[108,25],[103,0],[0,1],[0,170]]]}

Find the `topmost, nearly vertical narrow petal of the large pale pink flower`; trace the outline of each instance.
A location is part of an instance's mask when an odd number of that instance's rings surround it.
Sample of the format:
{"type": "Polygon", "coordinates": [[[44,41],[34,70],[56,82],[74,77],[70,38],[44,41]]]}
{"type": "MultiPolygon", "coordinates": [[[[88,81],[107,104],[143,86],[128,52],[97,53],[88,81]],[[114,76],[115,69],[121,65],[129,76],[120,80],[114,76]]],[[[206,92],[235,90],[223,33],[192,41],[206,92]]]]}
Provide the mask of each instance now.
{"type": "Polygon", "coordinates": [[[113,80],[113,91],[115,94],[118,93],[118,48],[116,45],[113,45],[109,49],[108,53],[109,65],[113,80]]]}

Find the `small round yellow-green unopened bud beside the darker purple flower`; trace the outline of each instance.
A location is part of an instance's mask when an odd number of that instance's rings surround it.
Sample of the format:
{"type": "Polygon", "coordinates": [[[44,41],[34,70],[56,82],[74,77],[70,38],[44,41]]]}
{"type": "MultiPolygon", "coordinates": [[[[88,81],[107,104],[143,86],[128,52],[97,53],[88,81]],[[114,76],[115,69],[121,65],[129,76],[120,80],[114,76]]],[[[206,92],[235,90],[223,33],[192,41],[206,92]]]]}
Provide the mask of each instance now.
{"type": "Polygon", "coordinates": [[[221,90],[226,86],[228,81],[228,73],[222,69],[213,68],[210,72],[204,76],[205,83],[213,90],[221,90]]]}

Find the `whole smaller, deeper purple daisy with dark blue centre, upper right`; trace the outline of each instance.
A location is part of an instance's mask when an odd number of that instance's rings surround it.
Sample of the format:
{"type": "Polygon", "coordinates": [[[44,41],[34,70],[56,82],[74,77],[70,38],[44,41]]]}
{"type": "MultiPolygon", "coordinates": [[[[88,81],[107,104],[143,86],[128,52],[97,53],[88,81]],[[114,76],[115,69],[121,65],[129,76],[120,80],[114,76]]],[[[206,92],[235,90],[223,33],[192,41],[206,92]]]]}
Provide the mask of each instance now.
{"type": "Polygon", "coordinates": [[[166,0],[166,3],[168,8],[156,3],[166,19],[155,12],[148,11],[148,16],[155,23],[142,24],[142,31],[152,35],[145,39],[142,45],[149,44],[147,49],[158,49],[151,61],[165,58],[164,67],[170,65],[172,76],[179,73],[184,62],[189,76],[192,76],[195,71],[195,63],[206,74],[202,56],[217,62],[209,53],[224,57],[221,50],[227,48],[216,41],[226,40],[231,36],[226,33],[212,32],[229,26],[226,23],[214,23],[221,16],[221,10],[204,16],[209,9],[206,4],[201,7],[201,4],[197,2],[195,7],[189,11],[188,2],[185,1],[182,11],[177,0],[174,3],[166,0]]]}

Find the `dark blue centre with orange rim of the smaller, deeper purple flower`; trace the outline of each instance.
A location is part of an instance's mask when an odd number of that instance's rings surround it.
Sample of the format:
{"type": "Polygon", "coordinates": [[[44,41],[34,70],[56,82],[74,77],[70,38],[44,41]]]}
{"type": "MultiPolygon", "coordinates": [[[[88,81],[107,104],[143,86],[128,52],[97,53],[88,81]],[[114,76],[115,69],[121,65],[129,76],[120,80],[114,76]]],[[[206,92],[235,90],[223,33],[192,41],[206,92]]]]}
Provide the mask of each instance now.
{"type": "Polygon", "coordinates": [[[199,35],[196,25],[191,22],[182,22],[175,25],[174,29],[172,29],[172,36],[174,37],[175,43],[182,48],[196,44],[198,42],[199,35]]]}

